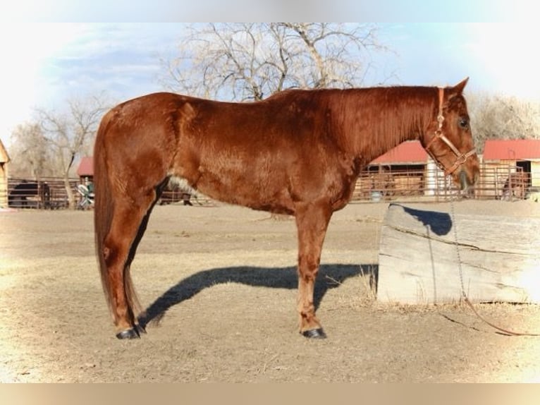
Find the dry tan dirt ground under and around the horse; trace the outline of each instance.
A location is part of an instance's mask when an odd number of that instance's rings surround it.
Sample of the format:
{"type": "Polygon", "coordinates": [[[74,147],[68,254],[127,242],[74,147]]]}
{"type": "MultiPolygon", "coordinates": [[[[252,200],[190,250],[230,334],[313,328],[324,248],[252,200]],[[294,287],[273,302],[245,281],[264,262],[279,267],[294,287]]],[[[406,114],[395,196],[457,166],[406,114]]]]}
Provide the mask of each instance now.
{"type": "MultiPolygon", "coordinates": [[[[157,206],[132,266],[154,322],[142,339],[119,341],[92,212],[4,210],[0,382],[540,382],[540,337],[498,334],[465,305],[374,299],[362,270],[377,266],[387,208],[334,214],[316,292],[328,339],[314,341],[297,332],[292,219],[157,206]]],[[[465,200],[455,211],[540,217],[540,204],[465,200]]],[[[508,329],[540,332],[539,306],[477,308],[508,329]]]]}

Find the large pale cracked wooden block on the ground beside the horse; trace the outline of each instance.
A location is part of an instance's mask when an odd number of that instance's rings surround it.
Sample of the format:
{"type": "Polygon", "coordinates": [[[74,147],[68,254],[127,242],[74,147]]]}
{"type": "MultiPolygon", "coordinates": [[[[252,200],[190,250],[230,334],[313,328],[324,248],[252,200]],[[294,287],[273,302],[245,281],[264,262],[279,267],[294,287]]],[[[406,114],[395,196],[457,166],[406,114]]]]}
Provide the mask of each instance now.
{"type": "Polygon", "coordinates": [[[460,262],[470,301],[540,303],[540,218],[450,216],[391,204],[381,231],[377,299],[459,302],[460,262]]]}

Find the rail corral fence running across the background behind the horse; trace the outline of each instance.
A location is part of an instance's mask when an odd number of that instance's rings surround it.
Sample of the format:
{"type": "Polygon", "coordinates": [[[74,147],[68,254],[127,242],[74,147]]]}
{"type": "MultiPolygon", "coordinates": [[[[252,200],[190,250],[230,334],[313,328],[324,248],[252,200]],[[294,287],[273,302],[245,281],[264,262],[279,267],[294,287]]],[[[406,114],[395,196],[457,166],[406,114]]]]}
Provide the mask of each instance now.
{"type": "MultiPolygon", "coordinates": [[[[424,169],[388,170],[369,168],[360,173],[353,202],[377,201],[446,201],[458,195],[481,200],[522,200],[531,190],[530,173],[520,167],[481,167],[480,178],[474,189],[463,195],[449,176],[436,167],[424,169]]],[[[78,203],[82,196],[77,191],[79,179],[70,179],[70,187],[78,203]]],[[[178,188],[164,191],[160,204],[183,204],[185,192],[178,188]]],[[[204,195],[192,195],[192,205],[212,205],[215,201],[204,195]]],[[[15,208],[67,208],[68,195],[63,179],[44,178],[40,182],[24,179],[8,180],[8,203],[15,208]],[[26,186],[25,186],[26,184],[26,186]],[[37,186],[35,186],[37,184],[37,186]],[[40,186],[41,184],[41,186],[40,186]],[[44,192],[47,184],[48,193],[44,192]]]]}

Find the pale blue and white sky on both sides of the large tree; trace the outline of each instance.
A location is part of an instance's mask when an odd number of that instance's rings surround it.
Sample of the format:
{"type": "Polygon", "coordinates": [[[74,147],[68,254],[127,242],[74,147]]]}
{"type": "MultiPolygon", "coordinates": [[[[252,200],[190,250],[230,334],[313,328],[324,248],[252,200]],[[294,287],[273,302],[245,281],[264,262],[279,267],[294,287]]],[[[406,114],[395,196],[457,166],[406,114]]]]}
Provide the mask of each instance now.
{"type": "MultiPolygon", "coordinates": [[[[332,4],[338,4],[336,1],[341,0],[334,0],[332,4]]],[[[95,2],[99,4],[102,0],[95,2]]],[[[166,0],[154,0],[152,4],[164,2],[166,0]]],[[[178,56],[176,49],[185,28],[185,23],[170,22],[172,16],[178,16],[178,0],[171,3],[176,5],[171,13],[161,13],[161,16],[154,16],[153,8],[144,8],[147,6],[137,8],[138,16],[127,15],[122,13],[121,6],[113,6],[115,16],[98,11],[92,13],[75,3],[19,0],[14,6],[16,15],[13,18],[5,14],[0,17],[0,138],[5,145],[10,144],[11,131],[18,124],[32,120],[36,108],[61,110],[68,99],[102,92],[113,101],[121,102],[164,90],[159,80],[164,75],[161,60],[178,56]],[[156,21],[112,22],[125,19],[156,21]],[[64,23],[63,20],[75,22],[64,23]],[[85,20],[111,22],[88,23],[85,20]]],[[[123,0],[114,4],[122,3],[123,0]]],[[[129,4],[133,8],[133,4],[138,3],[131,0],[129,4]]],[[[195,4],[207,3],[197,1],[195,4]]],[[[233,4],[238,3],[241,6],[243,0],[233,0],[233,4]]],[[[274,0],[272,4],[281,3],[274,0]]],[[[306,17],[343,20],[343,17],[352,19],[354,16],[369,18],[372,13],[373,20],[382,21],[377,23],[379,41],[391,52],[369,56],[371,65],[365,85],[453,85],[468,76],[467,92],[493,92],[540,102],[537,77],[540,62],[536,51],[540,25],[533,22],[533,15],[527,14],[520,0],[454,0],[441,2],[441,6],[434,9],[419,8],[421,2],[410,0],[397,2],[402,7],[400,10],[388,8],[391,1],[380,0],[379,7],[393,10],[390,18],[387,11],[377,14],[374,6],[367,8],[366,1],[349,2],[348,13],[336,16],[331,12],[321,14],[320,11],[328,6],[323,4],[322,8],[317,8],[319,3],[317,0],[309,3],[319,15],[308,13],[306,17]],[[475,5],[472,11],[481,17],[478,20],[491,18],[495,22],[407,22],[411,17],[443,19],[441,16],[448,16],[448,11],[459,17],[468,9],[465,8],[467,3],[475,5]],[[369,13],[362,13],[362,10],[369,13]]],[[[287,4],[291,4],[290,1],[287,4]]],[[[184,13],[183,16],[194,20],[220,16],[219,13],[215,16],[216,11],[220,11],[217,6],[200,10],[197,7],[192,6],[191,14],[184,13]]],[[[297,9],[290,6],[285,15],[272,14],[274,8],[268,10],[264,6],[257,10],[263,14],[253,16],[253,20],[257,20],[257,16],[259,20],[261,17],[286,19],[287,16],[293,17],[290,20],[294,17],[302,19],[297,16],[297,9]]],[[[221,17],[226,20],[228,16],[221,13],[221,17]]]]}

